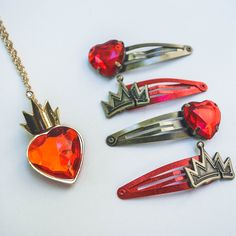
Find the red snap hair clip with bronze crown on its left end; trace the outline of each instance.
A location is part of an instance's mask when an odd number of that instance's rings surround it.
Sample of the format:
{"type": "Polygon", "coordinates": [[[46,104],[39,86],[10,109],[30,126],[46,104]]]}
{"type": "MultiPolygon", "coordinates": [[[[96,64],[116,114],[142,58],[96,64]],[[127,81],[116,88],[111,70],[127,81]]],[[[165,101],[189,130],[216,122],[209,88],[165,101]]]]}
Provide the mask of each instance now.
{"type": "Polygon", "coordinates": [[[161,78],[128,85],[124,85],[122,75],[117,75],[117,80],[118,93],[109,92],[108,102],[102,101],[107,118],[125,110],[190,96],[207,90],[205,83],[190,80],[161,78]]]}

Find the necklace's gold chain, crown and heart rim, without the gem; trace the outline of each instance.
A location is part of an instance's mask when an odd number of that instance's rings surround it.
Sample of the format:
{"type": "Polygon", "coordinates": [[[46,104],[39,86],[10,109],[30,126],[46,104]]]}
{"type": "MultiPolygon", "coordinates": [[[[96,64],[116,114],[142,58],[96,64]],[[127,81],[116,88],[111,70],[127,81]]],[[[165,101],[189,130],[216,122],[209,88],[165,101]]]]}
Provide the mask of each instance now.
{"type": "MultiPolygon", "coordinates": [[[[27,157],[28,157],[28,162],[31,165],[31,167],[40,173],[41,175],[58,181],[58,182],[63,182],[67,184],[72,184],[76,181],[78,174],[80,173],[80,169],[77,171],[77,175],[75,176],[74,179],[63,179],[63,178],[56,178],[54,176],[51,176],[48,173],[45,173],[39,169],[37,169],[29,160],[28,156],[28,149],[32,142],[38,137],[41,136],[42,134],[47,134],[51,128],[53,127],[58,127],[60,126],[60,120],[59,120],[59,112],[58,108],[55,110],[52,110],[49,102],[46,102],[44,106],[42,106],[38,100],[35,98],[34,92],[32,90],[32,87],[29,83],[29,76],[25,70],[25,67],[23,66],[21,59],[19,58],[17,51],[13,47],[12,41],[9,39],[9,34],[6,31],[5,26],[3,25],[3,22],[0,20],[0,37],[5,44],[5,47],[9,53],[9,55],[12,58],[12,61],[14,65],[16,66],[17,71],[19,72],[23,84],[26,88],[26,97],[31,101],[32,104],[32,114],[23,112],[23,115],[26,120],[26,124],[21,124],[28,132],[30,132],[33,135],[36,135],[32,141],[29,143],[28,148],[27,148],[27,157]]],[[[77,132],[77,131],[76,131],[77,132]]],[[[80,144],[81,144],[81,164],[80,168],[82,166],[82,161],[83,161],[83,152],[84,152],[84,142],[80,134],[77,132],[78,137],[80,139],[80,144]]]]}

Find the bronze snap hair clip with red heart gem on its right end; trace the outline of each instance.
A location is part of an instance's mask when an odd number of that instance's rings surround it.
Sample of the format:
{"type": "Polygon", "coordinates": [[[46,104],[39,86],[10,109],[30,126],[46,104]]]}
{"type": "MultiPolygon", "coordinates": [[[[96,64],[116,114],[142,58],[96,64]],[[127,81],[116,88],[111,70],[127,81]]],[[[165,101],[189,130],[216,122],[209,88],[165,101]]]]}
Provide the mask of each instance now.
{"type": "Polygon", "coordinates": [[[211,139],[218,131],[221,113],[209,100],[190,102],[181,111],[157,116],[107,137],[109,146],[148,143],[195,136],[211,139]]]}

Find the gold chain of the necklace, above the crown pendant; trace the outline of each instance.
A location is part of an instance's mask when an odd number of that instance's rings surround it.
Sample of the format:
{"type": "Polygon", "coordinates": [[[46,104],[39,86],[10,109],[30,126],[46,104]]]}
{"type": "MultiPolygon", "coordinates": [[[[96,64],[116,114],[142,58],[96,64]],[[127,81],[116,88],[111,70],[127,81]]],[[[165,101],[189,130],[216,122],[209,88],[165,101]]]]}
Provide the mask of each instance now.
{"type": "Polygon", "coordinates": [[[22,82],[26,88],[26,97],[30,100],[33,100],[36,104],[38,104],[37,99],[35,98],[34,92],[32,91],[32,87],[29,83],[29,76],[28,73],[25,70],[25,67],[23,66],[20,57],[17,55],[16,49],[13,47],[12,41],[9,39],[9,34],[6,31],[5,26],[3,25],[3,22],[0,20],[0,36],[1,39],[10,54],[12,61],[14,65],[16,66],[17,71],[19,72],[22,82]]]}

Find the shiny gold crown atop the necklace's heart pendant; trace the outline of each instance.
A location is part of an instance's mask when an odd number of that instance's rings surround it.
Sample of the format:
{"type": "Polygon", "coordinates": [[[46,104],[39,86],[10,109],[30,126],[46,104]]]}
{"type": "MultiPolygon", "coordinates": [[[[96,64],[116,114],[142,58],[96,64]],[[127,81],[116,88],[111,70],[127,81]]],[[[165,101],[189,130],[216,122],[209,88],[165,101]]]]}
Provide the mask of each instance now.
{"type": "Polygon", "coordinates": [[[53,111],[48,101],[44,107],[33,100],[31,100],[31,104],[33,114],[23,111],[26,124],[21,124],[28,132],[36,135],[60,124],[58,108],[53,111]]]}

